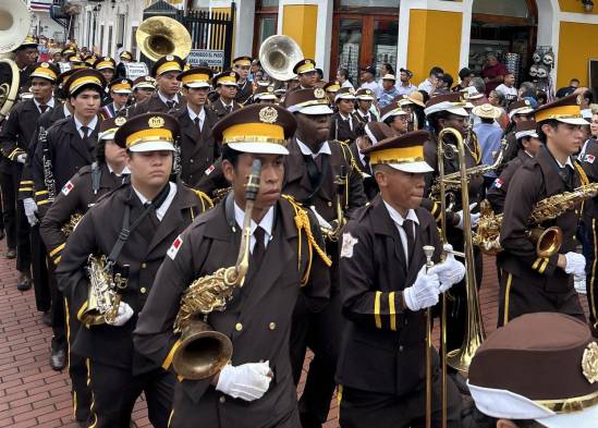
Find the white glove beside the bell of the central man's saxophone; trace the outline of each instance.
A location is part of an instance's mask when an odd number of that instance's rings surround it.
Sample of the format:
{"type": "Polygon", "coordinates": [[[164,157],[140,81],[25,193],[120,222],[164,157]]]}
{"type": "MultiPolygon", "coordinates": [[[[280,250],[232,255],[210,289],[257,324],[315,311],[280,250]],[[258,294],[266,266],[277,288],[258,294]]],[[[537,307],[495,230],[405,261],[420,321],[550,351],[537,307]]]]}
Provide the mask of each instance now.
{"type": "Polygon", "coordinates": [[[216,390],[245,401],[261,399],[272,380],[269,362],[224,366],[220,370],[216,390]]]}

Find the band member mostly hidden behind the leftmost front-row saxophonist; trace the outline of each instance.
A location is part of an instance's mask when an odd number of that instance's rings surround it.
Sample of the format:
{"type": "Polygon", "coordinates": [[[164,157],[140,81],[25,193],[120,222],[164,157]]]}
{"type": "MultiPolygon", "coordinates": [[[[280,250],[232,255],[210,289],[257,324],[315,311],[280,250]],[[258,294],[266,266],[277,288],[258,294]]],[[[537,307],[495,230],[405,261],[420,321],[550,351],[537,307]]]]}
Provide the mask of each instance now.
{"type": "MultiPolygon", "coordinates": [[[[64,248],[68,237],[65,225],[71,222],[72,216],[83,216],[102,195],[122,185],[129,175],[126,151],[114,143],[114,133],[124,122],[126,119],[122,117],[101,122],[96,160],[93,164],[81,168],[69,180],[68,185],[64,185],[44,216],[39,233],[46,248],[64,248]]],[[[69,225],[71,229],[74,228],[74,224],[69,225]]],[[[58,265],[61,258],[62,256],[59,255],[52,261],[58,265]]],[[[68,304],[66,309],[69,309],[69,322],[66,323],[69,376],[73,390],[74,418],[81,426],[87,427],[91,404],[91,392],[87,386],[87,365],[85,358],[70,352],[81,322],[76,318],[76,313],[68,304]]]]}

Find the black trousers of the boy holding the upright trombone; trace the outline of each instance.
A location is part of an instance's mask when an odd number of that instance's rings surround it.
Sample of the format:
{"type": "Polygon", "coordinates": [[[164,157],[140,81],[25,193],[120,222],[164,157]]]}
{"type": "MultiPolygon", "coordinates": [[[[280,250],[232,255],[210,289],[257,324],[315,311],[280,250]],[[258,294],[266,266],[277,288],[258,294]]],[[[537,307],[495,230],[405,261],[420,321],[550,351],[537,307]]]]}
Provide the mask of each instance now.
{"type": "MultiPolygon", "coordinates": [[[[450,428],[461,427],[461,395],[451,378],[447,379],[447,421],[450,428]]],[[[432,423],[442,426],[441,377],[436,370],[432,387],[432,423]]],[[[342,387],[339,424],[341,428],[424,428],[426,426],[425,380],[407,395],[391,395],[342,387]]]]}

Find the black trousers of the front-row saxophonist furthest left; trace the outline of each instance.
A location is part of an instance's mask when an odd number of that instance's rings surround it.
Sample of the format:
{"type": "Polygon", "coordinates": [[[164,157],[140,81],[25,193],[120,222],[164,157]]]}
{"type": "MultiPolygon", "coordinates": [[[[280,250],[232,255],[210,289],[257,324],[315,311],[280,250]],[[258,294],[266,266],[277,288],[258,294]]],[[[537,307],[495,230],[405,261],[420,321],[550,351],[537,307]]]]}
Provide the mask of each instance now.
{"type": "MultiPolygon", "coordinates": [[[[161,368],[133,376],[131,369],[89,362],[94,404],[89,427],[130,428],[135,401],[145,393],[149,421],[155,428],[167,428],[174,395],[174,376],[161,368]]],[[[202,421],[197,420],[197,426],[202,421]]]]}

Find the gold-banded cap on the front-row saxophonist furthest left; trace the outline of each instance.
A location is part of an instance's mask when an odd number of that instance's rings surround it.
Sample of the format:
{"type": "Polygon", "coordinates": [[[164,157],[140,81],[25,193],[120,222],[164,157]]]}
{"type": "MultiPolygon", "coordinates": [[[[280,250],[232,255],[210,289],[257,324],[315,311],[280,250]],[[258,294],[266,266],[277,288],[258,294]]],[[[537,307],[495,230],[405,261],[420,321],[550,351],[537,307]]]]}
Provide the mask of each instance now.
{"type": "Polygon", "coordinates": [[[130,151],[174,151],[179,122],[167,113],[145,113],[124,123],[114,134],[114,143],[130,151]]]}

